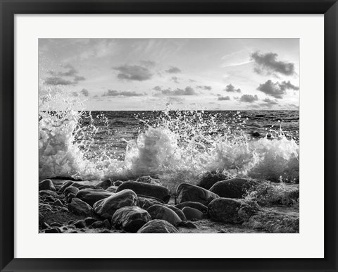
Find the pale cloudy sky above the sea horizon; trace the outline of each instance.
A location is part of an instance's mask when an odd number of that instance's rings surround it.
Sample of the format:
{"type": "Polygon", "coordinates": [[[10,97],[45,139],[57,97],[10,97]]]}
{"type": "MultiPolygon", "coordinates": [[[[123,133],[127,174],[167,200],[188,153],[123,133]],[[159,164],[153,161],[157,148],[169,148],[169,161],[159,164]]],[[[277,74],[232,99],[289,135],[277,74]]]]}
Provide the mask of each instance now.
{"type": "Polygon", "coordinates": [[[299,39],[39,39],[39,81],[90,110],[297,110],[299,39]]]}

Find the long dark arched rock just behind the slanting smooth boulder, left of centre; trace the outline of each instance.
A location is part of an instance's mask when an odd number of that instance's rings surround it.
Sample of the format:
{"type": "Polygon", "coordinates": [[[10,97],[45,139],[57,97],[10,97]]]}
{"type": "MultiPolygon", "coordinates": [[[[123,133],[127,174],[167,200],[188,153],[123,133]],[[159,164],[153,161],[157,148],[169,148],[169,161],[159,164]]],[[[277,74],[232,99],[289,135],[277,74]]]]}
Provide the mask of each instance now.
{"type": "Polygon", "coordinates": [[[154,197],[156,199],[161,199],[165,203],[168,203],[170,199],[169,190],[160,185],[127,181],[121,184],[116,192],[120,192],[125,189],[133,190],[139,197],[154,197]]]}

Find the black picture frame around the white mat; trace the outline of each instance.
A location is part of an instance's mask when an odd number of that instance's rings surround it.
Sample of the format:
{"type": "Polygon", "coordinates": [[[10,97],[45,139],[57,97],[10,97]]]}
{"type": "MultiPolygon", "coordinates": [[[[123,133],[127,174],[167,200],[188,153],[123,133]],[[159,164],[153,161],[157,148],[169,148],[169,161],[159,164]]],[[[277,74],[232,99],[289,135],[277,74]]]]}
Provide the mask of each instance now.
{"type": "MultiPolygon", "coordinates": [[[[335,0],[0,0],[1,271],[337,271],[338,3],[335,0]],[[15,14],[324,14],[325,258],[17,259],[14,258],[15,14]]],[[[314,216],[315,218],[315,216],[314,216]]],[[[32,245],[33,247],[34,245],[32,245]]],[[[140,245],[139,245],[140,246],[140,245]]],[[[311,241],[308,241],[311,247],[311,241]]]]}

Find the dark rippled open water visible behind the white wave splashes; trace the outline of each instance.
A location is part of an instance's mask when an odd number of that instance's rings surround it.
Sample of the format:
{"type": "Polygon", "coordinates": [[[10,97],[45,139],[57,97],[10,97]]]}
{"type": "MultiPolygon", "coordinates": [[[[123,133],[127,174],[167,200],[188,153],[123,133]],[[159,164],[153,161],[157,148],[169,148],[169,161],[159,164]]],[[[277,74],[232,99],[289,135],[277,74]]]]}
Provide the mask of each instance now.
{"type": "MultiPolygon", "coordinates": [[[[189,114],[189,111],[186,111],[189,114]]],[[[299,143],[299,111],[204,111],[204,118],[215,116],[215,121],[220,125],[219,130],[213,130],[213,133],[224,133],[225,129],[221,126],[225,121],[231,121],[235,115],[240,115],[245,120],[244,133],[251,139],[257,140],[265,137],[270,138],[272,130],[280,130],[288,139],[291,137],[299,143]],[[237,114],[238,113],[238,114],[237,114]]],[[[89,115],[89,111],[86,112],[89,115]]],[[[170,113],[175,116],[175,111],[170,113]]],[[[114,159],[124,159],[127,148],[127,142],[136,140],[140,132],[144,132],[148,125],[154,126],[158,123],[163,113],[161,111],[92,111],[94,125],[98,132],[94,135],[94,144],[90,152],[96,156],[96,152],[104,149],[114,159]],[[104,118],[105,117],[105,118],[104,118]],[[148,125],[140,121],[147,120],[148,125]]],[[[91,120],[82,118],[82,126],[88,126],[91,120]]],[[[236,130],[236,128],[232,128],[236,130]]],[[[208,133],[208,125],[204,132],[208,133]]],[[[80,137],[80,140],[82,138],[80,137]]]]}

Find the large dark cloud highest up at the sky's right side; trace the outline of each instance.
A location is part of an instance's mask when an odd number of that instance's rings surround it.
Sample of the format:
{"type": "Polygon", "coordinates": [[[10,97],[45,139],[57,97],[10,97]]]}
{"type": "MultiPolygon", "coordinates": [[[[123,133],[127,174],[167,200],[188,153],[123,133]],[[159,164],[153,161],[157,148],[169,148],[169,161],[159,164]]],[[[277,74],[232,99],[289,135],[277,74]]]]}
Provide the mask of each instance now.
{"type": "Polygon", "coordinates": [[[278,54],[276,53],[260,54],[256,51],[250,56],[255,61],[253,70],[258,74],[280,73],[282,75],[293,75],[295,73],[294,63],[277,61],[278,54]]]}

